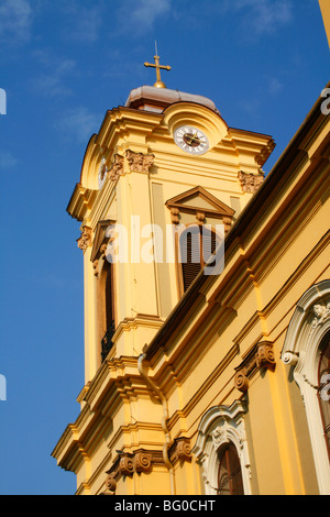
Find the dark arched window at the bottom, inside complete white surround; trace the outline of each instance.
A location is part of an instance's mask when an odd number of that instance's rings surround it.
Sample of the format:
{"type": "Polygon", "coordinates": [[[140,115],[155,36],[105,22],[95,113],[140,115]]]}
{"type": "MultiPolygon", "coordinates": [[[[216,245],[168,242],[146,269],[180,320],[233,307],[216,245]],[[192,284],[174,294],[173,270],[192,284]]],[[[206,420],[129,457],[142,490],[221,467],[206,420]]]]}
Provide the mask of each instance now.
{"type": "Polygon", "coordinates": [[[233,443],[220,455],[218,495],[244,495],[241,462],[233,443]]]}

